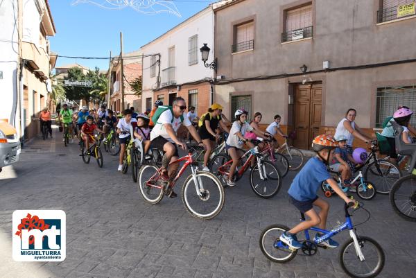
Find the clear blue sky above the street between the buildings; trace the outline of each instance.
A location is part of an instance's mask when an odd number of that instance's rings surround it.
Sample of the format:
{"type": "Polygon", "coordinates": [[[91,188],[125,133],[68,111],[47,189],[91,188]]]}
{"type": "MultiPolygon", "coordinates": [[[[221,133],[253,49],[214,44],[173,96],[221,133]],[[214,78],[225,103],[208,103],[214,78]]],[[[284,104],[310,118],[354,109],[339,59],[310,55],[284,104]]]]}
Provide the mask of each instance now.
{"type": "MultiPolygon", "coordinates": [[[[132,0],[89,0],[107,5],[108,2],[132,0]]],[[[139,0],[154,2],[158,0],[139,0]]],[[[56,35],[49,37],[51,51],[58,55],[76,57],[110,57],[120,53],[120,32],[123,32],[123,53],[138,50],[177,24],[206,8],[209,0],[173,0],[182,17],[168,12],[148,15],[130,7],[107,10],[85,0],[49,0],[56,35]],[[80,2],[72,5],[76,1],[80,2]]],[[[166,2],[166,1],[164,1],[166,2]]],[[[162,6],[153,6],[162,8],[162,6]]],[[[148,11],[145,10],[145,11],[148,11]]],[[[58,57],[56,66],[82,64],[85,67],[108,69],[109,60],[85,60],[58,57]]]]}

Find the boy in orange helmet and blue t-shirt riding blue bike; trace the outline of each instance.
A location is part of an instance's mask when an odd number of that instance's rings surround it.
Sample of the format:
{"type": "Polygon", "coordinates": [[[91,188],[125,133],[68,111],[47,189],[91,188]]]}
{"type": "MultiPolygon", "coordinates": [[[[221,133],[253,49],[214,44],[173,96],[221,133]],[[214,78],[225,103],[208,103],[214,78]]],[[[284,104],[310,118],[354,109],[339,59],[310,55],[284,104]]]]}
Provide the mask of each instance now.
{"type": "MultiPolygon", "coordinates": [[[[317,225],[320,229],[325,229],[325,226],[327,225],[329,204],[316,195],[320,184],[322,184],[324,180],[328,182],[333,191],[335,191],[335,193],[337,193],[346,203],[354,202],[355,204],[355,201],[349,199],[345,195],[327,171],[326,166],[329,163],[331,152],[337,146],[338,144],[335,139],[327,134],[315,137],[312,141],[312,148],[317,155],[306,162],[302,170],[296,175],[288,190],[292,204],[309,218],[281,234],[279,239],[289,247],[295,249],[302,247],[302,244],[297,241],[297,233],[317,225]],[[313,206],[319,207],[320,211],[315,211],[313,206]]],[[[316,234],[315,238],[318,236],[321,235],[316,234]]],[[[331,238],[327,241],[322,241],[320,244],[331,248],[338,247],[338,243],[331,238]]]]}

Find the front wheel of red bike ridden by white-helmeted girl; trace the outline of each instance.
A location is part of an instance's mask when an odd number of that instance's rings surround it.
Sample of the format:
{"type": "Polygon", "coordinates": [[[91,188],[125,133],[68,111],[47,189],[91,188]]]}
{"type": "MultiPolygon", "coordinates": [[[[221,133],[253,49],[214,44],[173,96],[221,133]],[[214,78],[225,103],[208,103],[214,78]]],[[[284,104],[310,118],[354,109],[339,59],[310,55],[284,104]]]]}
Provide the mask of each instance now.
{"type": "Polygon", "coordinates": [[[261,198],[272,198],[281,187],[281,175],[272,162],[263,161],[260,167],[257,164],[250,171],[251,188],[261,198]]]}

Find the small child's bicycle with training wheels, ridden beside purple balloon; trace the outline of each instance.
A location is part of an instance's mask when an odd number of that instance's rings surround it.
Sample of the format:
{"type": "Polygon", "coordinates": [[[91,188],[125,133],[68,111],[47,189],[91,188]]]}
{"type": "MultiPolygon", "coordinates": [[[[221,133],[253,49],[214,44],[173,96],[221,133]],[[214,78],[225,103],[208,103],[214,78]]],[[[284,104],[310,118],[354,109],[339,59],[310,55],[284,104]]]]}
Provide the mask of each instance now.
{"type": "MultiPolygon", "coordinates": [[[[377,190],[374,183],[364,180],[363,172],[359,171],[359,174],[354,177],[354,180],[350,182],[350,184],[343,184],[343,181],[341,180],[340,173],[334,172],[329,170],[329,173],[335,175],[336,177],[333,177],[333,180],[335,180],[338,183],[338,186],[340,186],[340,189],[344,192],[347,192],[349,188],[356,184],[358,181],[358,185],[356,185],[356,193],[358,197],[360,197],[363,200],[371,200],[376,196],[377,190]]],[[[331,186],[329,186],[328,182],[325,180],[321,184],[321,189],[324,191],[324,194],[326,197],[331,197],[333,193],[335,193],[331,186]]]]}

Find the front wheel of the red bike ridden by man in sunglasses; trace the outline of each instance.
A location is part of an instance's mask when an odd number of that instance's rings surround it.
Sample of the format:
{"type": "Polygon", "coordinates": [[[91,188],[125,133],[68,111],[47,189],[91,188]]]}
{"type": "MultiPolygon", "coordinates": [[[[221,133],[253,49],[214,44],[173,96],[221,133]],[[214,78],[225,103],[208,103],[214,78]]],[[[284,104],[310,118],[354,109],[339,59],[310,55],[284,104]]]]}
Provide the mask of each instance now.
{"type": "Polygon", "coordinates": [[[218,178],[208,172],[189,175],[182,186],[182,202],[191,216],[211,219],[224,206],[224,189],[218,178]]]}

